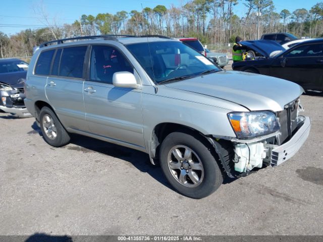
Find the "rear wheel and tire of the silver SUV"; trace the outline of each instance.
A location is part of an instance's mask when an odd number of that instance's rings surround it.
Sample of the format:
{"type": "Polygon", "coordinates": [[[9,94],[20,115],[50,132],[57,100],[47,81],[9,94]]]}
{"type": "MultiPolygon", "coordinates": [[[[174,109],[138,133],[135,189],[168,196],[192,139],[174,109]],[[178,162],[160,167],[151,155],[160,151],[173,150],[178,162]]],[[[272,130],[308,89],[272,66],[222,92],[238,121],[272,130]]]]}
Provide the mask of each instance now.
{"type": "Polygon", "coordinates": [[[49,107],[41,108],[39,122],[42,136],[49,145],[62,147],[70,142],[70,135],[49,107]]]}

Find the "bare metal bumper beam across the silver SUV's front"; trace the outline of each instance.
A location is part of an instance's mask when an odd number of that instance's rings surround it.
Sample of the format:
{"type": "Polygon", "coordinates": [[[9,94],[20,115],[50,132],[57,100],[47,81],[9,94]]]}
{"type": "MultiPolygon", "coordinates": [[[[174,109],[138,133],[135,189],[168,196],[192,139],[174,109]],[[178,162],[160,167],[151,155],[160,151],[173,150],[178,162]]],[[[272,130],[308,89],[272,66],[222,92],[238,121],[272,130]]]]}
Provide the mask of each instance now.
{"type": "Polygon", "coordinates": [[[309,117],[305,117],[304,124],[295,133],[295,135],[285,144],[272,150],[271,165],[280,165],[281,163],[295,155],[307,139],[310,128],[311,120],[309,117]]]}

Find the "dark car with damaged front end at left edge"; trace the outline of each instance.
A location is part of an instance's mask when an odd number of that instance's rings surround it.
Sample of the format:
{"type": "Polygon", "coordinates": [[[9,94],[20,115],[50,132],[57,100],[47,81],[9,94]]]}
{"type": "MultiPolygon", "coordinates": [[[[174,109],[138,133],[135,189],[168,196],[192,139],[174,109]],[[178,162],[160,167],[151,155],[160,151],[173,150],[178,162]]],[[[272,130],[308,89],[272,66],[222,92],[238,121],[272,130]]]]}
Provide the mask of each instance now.
{"type": "Polygon", "coordinates": [[[30,116],[25,107],[24,84],[28,64],[17,58],[0,59],[0,110],[30,116]]]}

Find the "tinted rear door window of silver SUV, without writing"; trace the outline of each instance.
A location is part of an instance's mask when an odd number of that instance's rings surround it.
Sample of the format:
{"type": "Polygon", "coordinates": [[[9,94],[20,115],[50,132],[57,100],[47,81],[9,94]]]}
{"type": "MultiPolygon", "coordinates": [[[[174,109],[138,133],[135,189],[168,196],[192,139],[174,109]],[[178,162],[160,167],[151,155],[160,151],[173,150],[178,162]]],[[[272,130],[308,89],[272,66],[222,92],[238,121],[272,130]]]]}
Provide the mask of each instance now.
{"type": "Polygon", "coordinates": [[[64,48],[59,75],[62,77],[82,78],[86,49],[87,46],[64,48]]]}

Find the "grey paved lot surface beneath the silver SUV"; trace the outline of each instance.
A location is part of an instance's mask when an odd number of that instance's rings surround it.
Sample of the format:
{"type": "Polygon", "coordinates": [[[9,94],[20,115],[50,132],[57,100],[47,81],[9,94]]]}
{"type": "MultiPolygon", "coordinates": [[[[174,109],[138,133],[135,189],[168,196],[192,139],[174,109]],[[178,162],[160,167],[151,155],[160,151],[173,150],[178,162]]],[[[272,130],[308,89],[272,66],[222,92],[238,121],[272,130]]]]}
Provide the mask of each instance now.
{"type": "Polygon", "coordinates": [[[309,138],[281,166],[174,192],[144,153],[74,136],[47,145],[34,118],[0,113],[0,234],[323,234],[323,95],[303,95],[309,138]]]}

